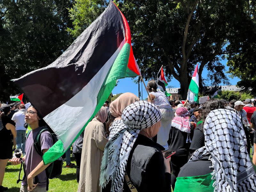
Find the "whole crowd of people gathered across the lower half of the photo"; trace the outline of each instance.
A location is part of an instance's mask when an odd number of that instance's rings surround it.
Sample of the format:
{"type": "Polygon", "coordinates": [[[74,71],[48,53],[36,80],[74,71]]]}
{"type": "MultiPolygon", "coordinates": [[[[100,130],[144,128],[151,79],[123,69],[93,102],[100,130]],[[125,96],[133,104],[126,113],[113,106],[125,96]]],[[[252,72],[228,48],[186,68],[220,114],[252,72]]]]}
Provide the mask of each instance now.
{"type": "MultiPolygon", "coordinates": [[[[148,100],[123,93],[105,102],[73,144],[78,192],[256,191],[256,100],[168,100],[147,85],[148,100]],[[252,153],[251,150],[252,149],[252,153]],[[172,156],[165,154],[172,152],[172,156]],[[253,155],[253,158],[250,157],[253,155]]],[[[32,105],[0,104],[0,192],[8,161],[25,164],[20,192],[48,190],[42,154],[51,132],[32,105]],[[31,131],[28,132],[28,126],[31,131]],[[40,152],[35,140],[40,132],[40,152]],[[12,157],[13,149],[21,158],[12,157]]],[[[70,163],[70,148],[66,152],[70,163]]]]}

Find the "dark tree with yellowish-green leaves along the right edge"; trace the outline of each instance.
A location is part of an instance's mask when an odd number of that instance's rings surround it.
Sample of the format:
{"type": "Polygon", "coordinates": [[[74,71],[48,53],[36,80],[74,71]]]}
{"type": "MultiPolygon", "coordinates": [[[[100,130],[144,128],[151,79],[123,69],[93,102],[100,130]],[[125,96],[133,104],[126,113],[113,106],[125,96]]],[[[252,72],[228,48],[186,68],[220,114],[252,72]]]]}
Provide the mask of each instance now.
{"type": "Polygon", "coordinates": [[[241,80],[237,85],[243,88],[243,91],[251,90],[256,94],[256,1],[247,1],[244,6],[244,13],[250,18],[250,25],[242,25],[246,28],[245,33],[233,39],[232,46],[238,49],[238,52],[228,54],[229,66],[228,73],[231,77],[239,77],[241,80]],[[243,43],[239,43],[243,42],[243,43]]]}

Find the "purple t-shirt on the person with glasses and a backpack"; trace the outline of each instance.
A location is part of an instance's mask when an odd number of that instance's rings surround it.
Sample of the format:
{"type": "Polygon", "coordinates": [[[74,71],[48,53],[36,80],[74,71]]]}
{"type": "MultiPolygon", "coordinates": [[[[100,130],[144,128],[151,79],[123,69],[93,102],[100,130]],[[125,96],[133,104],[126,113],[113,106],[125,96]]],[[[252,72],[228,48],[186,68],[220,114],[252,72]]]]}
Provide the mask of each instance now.
{"type": "MultiPolygon", "coordinates": [[[[38,127],[34,130],[32,130],[29,135],[28,139],[26,140],[26,158],[25,158],[25,172],[26,172],[26,178],[22,181],[21,185],[27,185],[28,184],[28,174],[33,171],[36,166],[42,161],[42,156],[40,156],[34,147],[34,140],[36,138],[37,133],[42,129],[43,127],[38,127]]],[[[49,131],[44,131],[41,133],[41,150],[43,152],[43,149],[49,149],[52,147],[52,136],[49,131]]],[[[46,187],[46,173],[45,170],[37,175],[38,177],[38,186],[40,187],[46,187]]]]}

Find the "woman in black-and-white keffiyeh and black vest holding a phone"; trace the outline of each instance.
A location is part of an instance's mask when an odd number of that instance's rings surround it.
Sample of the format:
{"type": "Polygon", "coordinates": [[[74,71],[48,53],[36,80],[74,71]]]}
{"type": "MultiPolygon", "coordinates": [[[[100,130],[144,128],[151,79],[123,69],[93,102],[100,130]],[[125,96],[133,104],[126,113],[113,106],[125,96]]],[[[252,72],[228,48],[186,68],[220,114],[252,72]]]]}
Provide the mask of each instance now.
{"type": "Polygon", "coordinates": [[[164,147],[150,139],[159,131],[160,121],[161,112],[156,105],[137,101],[124,109],[120,121],[111,125],[114,136],[104,149],[101,164],[103,192],[121,188],[130,192],[133,187],[138,192],[171,191],[170,158],[165,159],[164,147]]]}

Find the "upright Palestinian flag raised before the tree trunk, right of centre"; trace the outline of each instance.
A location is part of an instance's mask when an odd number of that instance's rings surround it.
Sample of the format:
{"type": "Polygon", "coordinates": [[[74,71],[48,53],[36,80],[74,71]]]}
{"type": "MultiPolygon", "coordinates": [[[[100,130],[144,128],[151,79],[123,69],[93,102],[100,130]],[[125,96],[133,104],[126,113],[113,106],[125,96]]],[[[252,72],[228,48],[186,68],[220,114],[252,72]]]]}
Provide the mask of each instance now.
{"type": "Polygon", "coordinates": [[[198,92],[199,92],[199,76],[198,76],[198,65],[196,65],[196,69],[194,71],[194,74],[192,76],[191,82],[188,87],[187,100],[196,101],[197,103],[199,103],[198,92]]]}

